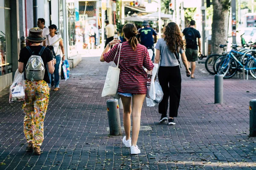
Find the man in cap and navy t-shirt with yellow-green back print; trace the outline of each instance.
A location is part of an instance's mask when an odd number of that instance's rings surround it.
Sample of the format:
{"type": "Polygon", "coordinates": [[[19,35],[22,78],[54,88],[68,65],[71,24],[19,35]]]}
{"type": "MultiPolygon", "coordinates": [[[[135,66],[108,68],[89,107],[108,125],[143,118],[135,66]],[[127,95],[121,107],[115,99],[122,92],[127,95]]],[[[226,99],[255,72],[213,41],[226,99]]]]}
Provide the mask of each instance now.
{"type": "Polygon", "coordinates": [[[144,28],[139,30],[138,38],[140,44],[153,51],[152,61],[154,62],[154,42],[157,42],[157,33],[149,27],[148,21],[143,21],[144,28]],[[154,35],[154,38],[153,38],[154,35]]]}

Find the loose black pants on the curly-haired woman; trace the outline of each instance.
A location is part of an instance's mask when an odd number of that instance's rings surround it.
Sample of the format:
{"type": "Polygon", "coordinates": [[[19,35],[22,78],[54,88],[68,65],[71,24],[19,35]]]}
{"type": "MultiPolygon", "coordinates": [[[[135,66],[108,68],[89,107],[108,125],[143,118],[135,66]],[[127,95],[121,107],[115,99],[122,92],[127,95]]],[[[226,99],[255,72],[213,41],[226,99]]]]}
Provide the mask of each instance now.
{"type": "Polygon", "coordinates": [[[177,117],[181,93],[180,67],[160,66],[158,71],[158,79],[163,89],[163,100],[159,103],[158,111],[160,114],[167,114],[169,100],[169,116],[177,117]]]}

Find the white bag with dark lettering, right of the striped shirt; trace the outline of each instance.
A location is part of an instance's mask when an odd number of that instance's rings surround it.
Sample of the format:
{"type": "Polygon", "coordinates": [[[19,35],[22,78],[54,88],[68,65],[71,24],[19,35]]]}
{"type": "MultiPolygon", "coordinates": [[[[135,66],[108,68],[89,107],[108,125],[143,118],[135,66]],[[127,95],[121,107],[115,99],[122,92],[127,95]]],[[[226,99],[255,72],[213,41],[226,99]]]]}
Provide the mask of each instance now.
{"type": "Polygon", "coordinates": [[[157,75],[157,69],[158,69],[158,64],[154,63],[154,68],[151,71],[147,71],[147,94],[146,97],[150,99],[155,99],[156,94],[155,94],[155,87],[154,87],[154,79],[157,75]]]}

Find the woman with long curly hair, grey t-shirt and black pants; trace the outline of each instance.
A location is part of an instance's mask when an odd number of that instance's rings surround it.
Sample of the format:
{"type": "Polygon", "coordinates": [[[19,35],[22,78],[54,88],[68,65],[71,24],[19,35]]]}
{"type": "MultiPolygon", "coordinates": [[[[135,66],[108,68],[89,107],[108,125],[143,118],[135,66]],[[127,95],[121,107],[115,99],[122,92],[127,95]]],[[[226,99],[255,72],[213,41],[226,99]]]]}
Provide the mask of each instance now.
{"type": "Polygon", "coordinates": [[[184,53],[185,41],[182,40],[180,28],[176,23],[170,22],[163,30],[163,38],[157,41],[156,57],[154,63],[159,63],[158,71],[159,83],[163,89],[163,100],[158,106],[159,113],[162,114],[160,123],[169,120],[169,125],[175,125],[174,117],[177,117],[180,105],[181,75],[179,55],[189,77],[189,65],[184,53]],[[179,53],[178,53],[179,51],[179,53]],[[169,99],[170,98],[170,99],[169,99]],[[167,118],[169,99],[169,119],[167,118]]]}

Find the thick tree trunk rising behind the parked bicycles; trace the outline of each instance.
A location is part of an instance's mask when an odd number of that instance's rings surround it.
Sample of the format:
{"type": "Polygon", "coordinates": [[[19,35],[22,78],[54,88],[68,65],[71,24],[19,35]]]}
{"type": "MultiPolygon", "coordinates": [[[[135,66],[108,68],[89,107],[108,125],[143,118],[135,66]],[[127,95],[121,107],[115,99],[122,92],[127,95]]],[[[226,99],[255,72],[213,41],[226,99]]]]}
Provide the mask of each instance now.
{"type": "Polygon", "coordinates": [[[227,41],[229,9],[227,6],[224,6],[224,3],[226,2],[226,0],[212,0],[213,17],[211,54],[222,54],[223,50],[219,48],[219,45],[225,44],[225,41],[227,41]]]}

